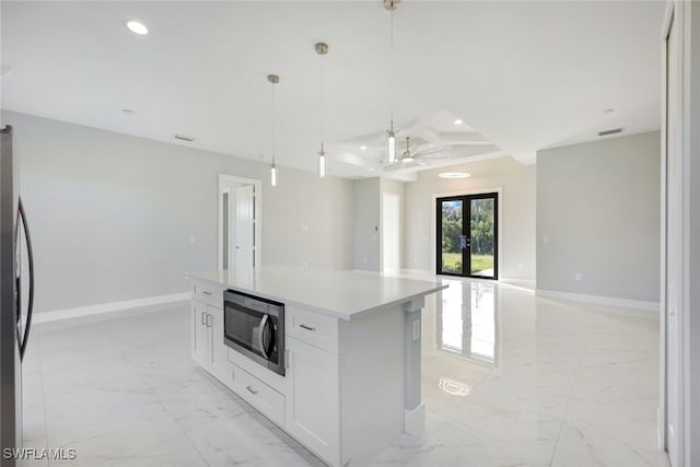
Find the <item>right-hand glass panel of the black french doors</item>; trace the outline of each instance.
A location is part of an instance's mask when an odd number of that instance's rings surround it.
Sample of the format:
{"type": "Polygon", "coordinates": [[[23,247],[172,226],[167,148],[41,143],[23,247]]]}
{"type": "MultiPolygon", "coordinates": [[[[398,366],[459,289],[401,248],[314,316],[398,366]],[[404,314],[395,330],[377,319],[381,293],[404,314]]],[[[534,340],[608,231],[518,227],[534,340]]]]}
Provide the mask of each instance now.
{"type": "Polygon", "coordinates": [[[471,275],[494,276],[495,215],[494,199],[471,199],[470,219],[471,275]]]}

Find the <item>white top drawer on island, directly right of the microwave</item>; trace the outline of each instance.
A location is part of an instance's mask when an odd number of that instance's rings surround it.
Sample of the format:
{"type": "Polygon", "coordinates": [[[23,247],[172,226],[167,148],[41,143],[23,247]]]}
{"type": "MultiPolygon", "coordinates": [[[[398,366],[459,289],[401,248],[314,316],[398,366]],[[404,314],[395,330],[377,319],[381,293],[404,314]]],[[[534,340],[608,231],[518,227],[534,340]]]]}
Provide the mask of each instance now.
{"type": "Polygon", "coordinates": [[[338,353],[338,319],[287,306],[287,335],[324,350],[338,353]]]}

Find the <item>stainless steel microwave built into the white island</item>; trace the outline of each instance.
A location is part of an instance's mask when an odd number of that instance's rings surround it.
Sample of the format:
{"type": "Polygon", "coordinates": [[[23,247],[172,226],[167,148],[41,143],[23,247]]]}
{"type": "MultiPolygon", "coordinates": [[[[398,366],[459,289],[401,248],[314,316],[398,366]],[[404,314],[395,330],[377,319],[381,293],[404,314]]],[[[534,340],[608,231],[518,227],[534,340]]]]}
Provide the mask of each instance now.
{"type": "Polygon", "coordinates": [[[226,346],[284,376],[284,304],[228,290],[223,328],[226,346]]]}

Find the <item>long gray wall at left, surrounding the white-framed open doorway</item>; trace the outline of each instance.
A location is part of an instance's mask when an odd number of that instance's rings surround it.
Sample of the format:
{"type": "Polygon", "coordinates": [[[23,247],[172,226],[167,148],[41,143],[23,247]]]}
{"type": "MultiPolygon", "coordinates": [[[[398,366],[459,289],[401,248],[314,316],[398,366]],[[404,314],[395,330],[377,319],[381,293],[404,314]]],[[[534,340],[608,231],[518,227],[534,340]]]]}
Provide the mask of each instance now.
{"type": "Polygon", "coordinates": [[[352,267],[352,182],[3,112],[15,127],[36,311],[171,294],[217,268],[219,174],[262,186],[262,264],[352,267]],[[191,241],[194,240],[194,243],[191,241]]]}

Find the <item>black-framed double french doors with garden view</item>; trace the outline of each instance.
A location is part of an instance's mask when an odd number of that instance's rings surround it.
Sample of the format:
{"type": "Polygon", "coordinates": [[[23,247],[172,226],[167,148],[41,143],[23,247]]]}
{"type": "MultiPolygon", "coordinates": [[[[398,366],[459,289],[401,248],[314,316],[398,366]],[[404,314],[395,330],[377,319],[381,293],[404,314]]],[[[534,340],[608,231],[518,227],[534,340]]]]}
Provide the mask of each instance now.
{"type": "Polygon", "coordinates": [[[438,273],[499,278],[499,195],[438,198],[438,273]]]}

